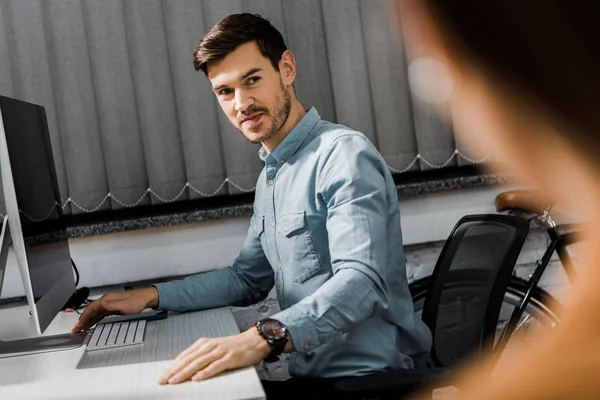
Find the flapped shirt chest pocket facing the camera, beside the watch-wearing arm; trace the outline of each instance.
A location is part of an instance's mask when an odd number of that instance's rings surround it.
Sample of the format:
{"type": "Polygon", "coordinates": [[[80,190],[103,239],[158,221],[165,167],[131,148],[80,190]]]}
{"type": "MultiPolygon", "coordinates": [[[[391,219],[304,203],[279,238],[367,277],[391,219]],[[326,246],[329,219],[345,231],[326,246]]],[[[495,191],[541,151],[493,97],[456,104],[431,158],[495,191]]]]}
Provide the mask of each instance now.
{"type": "Polygon", "coordinates": [[[290,271],[294,282],[304,283],[321,270],[303,212],[279,216],[277,249],[281,269],[284,273],[290,271]]]}

